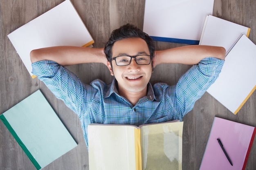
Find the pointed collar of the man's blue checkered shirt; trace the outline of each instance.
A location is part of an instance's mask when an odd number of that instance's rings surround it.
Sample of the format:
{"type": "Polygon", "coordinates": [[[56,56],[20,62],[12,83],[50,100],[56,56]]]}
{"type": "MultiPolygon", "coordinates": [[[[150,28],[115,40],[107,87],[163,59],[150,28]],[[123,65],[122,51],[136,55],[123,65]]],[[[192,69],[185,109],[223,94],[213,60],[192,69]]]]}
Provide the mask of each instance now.
{"type": "MultiPolygon", "coordinates": [[[[107,93],[104,95],[104,98],[110,97],[112,93],[116,93],[117,95],[119,95],[119,92],[117,90],[117,80],[115,78],[113,79],[107,93]]],[[[149,101],[153,101],[154,99],[156,100],[153,87],[150,83],[148,83],[146,97],[148,98],[149,101]]]]}

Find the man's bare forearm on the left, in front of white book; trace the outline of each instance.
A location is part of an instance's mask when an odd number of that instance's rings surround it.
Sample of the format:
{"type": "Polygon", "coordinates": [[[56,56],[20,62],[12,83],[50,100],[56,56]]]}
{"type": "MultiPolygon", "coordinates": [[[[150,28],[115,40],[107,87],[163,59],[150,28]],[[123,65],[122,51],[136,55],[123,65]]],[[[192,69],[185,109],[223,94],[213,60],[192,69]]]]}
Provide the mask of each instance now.
{"type": "Polygon", "coordinates": [[[98,62],[107,65],[104,49],[85,48],[78,46],[54,46],[31,51],[32,63],[51,60],[62,66],[70,66],[81,63],[98,62]]]}

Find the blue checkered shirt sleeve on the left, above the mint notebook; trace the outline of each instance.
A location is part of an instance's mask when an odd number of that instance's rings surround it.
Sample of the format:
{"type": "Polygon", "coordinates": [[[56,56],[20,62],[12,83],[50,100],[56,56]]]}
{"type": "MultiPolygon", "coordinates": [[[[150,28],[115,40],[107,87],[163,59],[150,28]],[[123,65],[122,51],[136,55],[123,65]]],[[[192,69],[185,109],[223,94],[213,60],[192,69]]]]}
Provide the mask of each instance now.
{"type": "Polygon", "coordinates": [[[44,60],[32,63],[32,73],[79,116],[83,105],[92,98],[91,86],[81,83],[74,73],[56,62],[44,60]]]}

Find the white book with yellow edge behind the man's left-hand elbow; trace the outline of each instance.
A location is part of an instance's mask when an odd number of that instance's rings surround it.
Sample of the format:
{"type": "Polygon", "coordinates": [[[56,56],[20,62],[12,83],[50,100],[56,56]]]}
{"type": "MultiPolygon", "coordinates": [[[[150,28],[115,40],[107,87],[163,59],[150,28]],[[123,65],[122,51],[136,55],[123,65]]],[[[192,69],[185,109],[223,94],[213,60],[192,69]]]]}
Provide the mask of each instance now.
{"type": "Polygon", "coordinates": [[[30,75],[34,78],[30,52],[49,46],[90,46],[94,43],[70,0],[7,35],[30,75]]]}

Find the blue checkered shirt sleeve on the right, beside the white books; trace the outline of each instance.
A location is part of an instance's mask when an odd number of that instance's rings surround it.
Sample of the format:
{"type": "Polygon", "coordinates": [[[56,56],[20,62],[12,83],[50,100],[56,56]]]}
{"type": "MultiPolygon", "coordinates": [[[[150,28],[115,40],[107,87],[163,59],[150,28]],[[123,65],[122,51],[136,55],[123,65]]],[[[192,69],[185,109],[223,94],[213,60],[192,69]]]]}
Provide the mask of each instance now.
{"type": "Polygon", "coordinates": [[[195,102],[215,82],[224,62],[214,57],[204,58],[180,77],[175,89],[180,119],[192,110],[195,102]]]}

